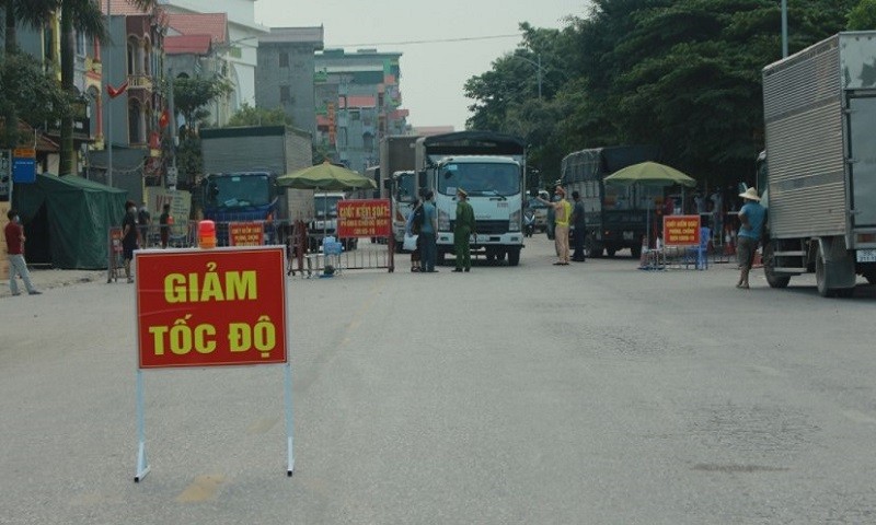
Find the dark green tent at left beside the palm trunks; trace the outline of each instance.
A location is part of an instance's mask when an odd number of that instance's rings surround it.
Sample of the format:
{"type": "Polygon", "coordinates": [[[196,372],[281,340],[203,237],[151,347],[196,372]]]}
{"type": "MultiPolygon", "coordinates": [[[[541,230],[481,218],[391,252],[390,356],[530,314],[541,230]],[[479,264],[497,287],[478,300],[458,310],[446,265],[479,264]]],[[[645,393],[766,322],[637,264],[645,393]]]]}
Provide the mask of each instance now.
{"type": "Polygon", "coordinates": [[[28,262],[64,269],[107,267],[107,232],[122,224],[126,190],[73,175],[38,174],[34,184],[16,184],[13,199],[30,232],[27,254],[50,256],[50,260],[28,256],[28,262]]]}

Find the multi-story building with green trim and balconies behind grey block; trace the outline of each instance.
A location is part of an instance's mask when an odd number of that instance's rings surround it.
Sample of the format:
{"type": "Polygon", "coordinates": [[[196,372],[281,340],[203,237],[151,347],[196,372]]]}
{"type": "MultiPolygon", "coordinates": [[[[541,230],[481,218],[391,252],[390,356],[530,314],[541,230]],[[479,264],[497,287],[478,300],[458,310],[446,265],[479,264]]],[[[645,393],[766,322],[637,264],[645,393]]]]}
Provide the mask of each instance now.
{"type": "Polygon", "coordinates": [[[326,49],[315,57],[318,149],[365,173],[379,164],[380,139],[407,132],[399,89],[401,52],[326,49]]]}

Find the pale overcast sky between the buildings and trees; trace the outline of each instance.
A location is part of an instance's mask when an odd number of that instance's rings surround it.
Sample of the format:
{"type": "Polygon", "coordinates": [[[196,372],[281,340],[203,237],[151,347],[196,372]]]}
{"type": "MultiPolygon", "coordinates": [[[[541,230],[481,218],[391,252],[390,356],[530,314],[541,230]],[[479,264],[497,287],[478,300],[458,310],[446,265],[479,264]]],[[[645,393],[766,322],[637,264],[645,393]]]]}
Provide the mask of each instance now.
{"type": "Polygon", "coordinates": [[[587,5],[587,0],[257,0],[255,21],[268,27],[323,25],[326,48],[402,52],[408,124],[462,130],[472,104],[463,95],[465,81],[520,44],[519,23],[564,27],[565,16],[585,16],[587,5]]]}

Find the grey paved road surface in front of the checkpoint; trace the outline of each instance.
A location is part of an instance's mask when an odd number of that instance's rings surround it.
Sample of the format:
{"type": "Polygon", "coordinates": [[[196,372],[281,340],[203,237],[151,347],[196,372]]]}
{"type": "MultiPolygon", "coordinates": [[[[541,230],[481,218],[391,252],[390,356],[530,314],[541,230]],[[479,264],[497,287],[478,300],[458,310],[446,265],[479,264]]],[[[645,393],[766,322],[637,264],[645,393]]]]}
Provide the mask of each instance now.
{"type": "Polygon", "coordinates": [[[134,288],[0,298],[0,523],[876,521],[874,287],[552,261],[289,279],[292,478],[280,369],[173,370],[135,485],[134,288]]]}

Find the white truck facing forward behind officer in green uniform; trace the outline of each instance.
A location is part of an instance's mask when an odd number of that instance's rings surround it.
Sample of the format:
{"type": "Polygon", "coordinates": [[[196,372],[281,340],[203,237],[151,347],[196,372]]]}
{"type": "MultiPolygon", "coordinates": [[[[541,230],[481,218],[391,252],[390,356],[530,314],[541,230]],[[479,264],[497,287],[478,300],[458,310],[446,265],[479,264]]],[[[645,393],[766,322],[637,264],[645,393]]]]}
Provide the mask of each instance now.
{"type": "Polygon", "coordinates": [[[523,247],[526,142],[491,131],[460,131],[423,137],[416,142],[418,186],[435,194],[438,261],[453,253],[457,189],[474,209],[473,253],[487,260],[520,262],[523,247]]]}

